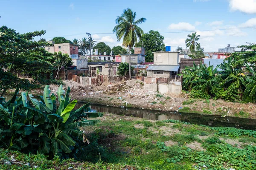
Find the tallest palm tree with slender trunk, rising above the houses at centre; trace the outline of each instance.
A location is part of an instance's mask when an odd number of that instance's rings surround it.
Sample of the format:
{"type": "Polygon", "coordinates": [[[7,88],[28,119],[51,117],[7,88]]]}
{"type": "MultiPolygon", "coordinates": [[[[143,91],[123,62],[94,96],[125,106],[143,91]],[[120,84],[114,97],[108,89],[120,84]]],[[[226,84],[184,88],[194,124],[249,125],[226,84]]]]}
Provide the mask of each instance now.
{"type": "Polygon", "coordinates": [[[137,37],[140,39],[144,34],[143,30],[137,25],[145,23],[145,18],[136,20],[136,12],[131,11],[131,8],[127,8],[116,18],[116,26],[113,32],[116,33],[117,41],[123,38],[122,45],[129,49],[129,77],[131,79],[131,48],[137,42],[137,37]]]}

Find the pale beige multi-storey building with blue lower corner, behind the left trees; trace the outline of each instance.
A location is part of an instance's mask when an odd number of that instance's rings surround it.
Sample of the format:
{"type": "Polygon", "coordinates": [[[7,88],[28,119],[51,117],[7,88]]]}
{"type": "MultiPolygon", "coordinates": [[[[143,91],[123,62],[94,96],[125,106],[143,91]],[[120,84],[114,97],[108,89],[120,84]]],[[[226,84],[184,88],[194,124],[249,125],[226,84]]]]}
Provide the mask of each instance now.
{"type": "Polygon", "coordinates": [[[52,46],[45,46],[46,51],[50,53],[59,52],[68,54],[72,59],[78,59],[78,46],[70,43],[53,44],[52,46]]]}

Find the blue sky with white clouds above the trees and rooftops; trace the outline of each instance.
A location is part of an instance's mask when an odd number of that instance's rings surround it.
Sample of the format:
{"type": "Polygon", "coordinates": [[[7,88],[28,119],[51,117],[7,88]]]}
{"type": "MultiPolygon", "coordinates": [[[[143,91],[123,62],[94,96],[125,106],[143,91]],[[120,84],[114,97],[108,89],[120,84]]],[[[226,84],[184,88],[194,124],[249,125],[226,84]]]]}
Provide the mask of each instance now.
{"type": "Polygon", "coordinates": [[[201,35],[205,52],[256,42],[256,0],[0,0],[0,6],[0,26],[20,33],[46,30],[46,40],[81,40],[89,32],[96,43],[122,45],[113,27],[116,17],[131,8],[137,19],[147,19],[140,25],[144,33],[159,31],[171,51],[186,48],[192,31],[201,35]]]}

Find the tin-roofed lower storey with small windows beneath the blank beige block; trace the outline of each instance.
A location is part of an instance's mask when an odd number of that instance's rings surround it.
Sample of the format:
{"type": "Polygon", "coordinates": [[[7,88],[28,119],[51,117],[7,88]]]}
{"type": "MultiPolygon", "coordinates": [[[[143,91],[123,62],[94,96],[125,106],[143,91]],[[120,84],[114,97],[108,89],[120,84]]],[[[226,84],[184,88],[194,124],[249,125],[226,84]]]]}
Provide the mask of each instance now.
{"type": "Polygon", "coordinates": [[[147,77],[167,77],[175,79],[179,71],[179,65],[149,65],[147,77]]]}

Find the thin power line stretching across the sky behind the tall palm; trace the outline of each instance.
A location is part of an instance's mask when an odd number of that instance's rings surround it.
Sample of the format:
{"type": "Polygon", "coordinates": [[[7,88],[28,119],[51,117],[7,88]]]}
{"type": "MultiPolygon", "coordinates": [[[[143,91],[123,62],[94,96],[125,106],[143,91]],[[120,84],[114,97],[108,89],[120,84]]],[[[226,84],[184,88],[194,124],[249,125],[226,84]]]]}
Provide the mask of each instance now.
{"type": "MultiPolygon", "coordinates": [[[[223,31],[223,30],[234,30],[234,29],[247,29],[247,28],[256,28],[256,27],[255,26],[247,26],[247,27],[237,27],[237,28],[220,28],[220,29],[201,30],[200,32],[205,32],[205,31],[223,31]]],[[[175,34],[175,33],[189,33],[189,32],[199,32],[199,31],[160,32],[160,34],[175,34]]],[[[90,32],[90,33],[91,34],[114,34],[114,33],[103,33],[103,32],[90,32]]],[[[61,37],[69,37],[69,36],[76,36],[76,35],[82,35],[82,34],[86,34],[86,32],[78,33],[78,34],[63,35],[61,37]]]]}

